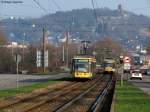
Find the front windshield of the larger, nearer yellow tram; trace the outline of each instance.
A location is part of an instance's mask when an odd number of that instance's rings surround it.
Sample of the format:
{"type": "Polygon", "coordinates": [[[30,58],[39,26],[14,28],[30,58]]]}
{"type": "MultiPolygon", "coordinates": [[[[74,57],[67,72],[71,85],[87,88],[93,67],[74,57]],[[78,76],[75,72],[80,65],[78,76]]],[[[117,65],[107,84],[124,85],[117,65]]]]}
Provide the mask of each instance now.
{"type": "Polygon", "coordinates": [[[76,63],[75,63],[75,71],[88,72],[89,71],[89,63],[88,62],[76,61],[76,63]]]}

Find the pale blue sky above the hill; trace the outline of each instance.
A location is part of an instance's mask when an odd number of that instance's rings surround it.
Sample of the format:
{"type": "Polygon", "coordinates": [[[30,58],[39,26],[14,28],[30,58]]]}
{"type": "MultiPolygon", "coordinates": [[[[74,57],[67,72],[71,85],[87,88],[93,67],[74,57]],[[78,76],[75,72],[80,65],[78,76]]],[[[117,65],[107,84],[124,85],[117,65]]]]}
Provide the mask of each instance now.
{"type": "MultiPolygon", "coordinates": [[[[1,0],[0,0],[1,1],[1,0]]],[[[14,0],[12,0],[14,1],[14,0]]],[[[36,0],[45,9],[33,0],[20,0],[22,4],[2,4],[0,3],[0,18],[10,16],[36,18],[56,11],[68,11],[72,9],[92,8],[91,0],[36,0]]],[[[108,7],[117,9],[118,4],[122,4],[123,9],[143,14],[150,17],[150,0],[95,0],[97,7],[108,7]]]]}

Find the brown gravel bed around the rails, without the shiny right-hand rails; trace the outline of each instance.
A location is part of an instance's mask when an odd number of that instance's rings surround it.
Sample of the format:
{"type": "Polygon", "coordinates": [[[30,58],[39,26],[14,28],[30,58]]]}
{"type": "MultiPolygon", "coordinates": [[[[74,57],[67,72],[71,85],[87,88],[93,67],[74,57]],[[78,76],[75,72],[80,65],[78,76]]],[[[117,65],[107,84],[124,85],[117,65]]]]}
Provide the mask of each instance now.
{"type": "MultiPolygon", "coordinates": [[[[6,106],[0,112],[54,112],[96,85],[65,110],[65,112],[87,112],[110,79],[109,75],[102,75],[94,80],[65,82],[64,84],[56,84],[52,87],[36,90],[22,97],[16,96],[11,100],[9,99],[10,101],[15,99],[16,102],[6,106]]],[[[9,100],[6,100],[6,103],[9,104],[9,100]]],[[[0,107],[3,107],[1,103],[0,107]]]]}

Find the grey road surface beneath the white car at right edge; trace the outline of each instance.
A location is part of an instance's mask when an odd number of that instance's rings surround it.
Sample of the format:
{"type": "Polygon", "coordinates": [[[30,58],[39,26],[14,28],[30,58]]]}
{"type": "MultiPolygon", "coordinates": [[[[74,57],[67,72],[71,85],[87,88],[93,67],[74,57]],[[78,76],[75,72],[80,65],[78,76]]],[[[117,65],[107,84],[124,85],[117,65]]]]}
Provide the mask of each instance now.
{"type": "Polygon", "coordinates": [[[150,95],[150,76],[143,75],[143,80],[130,80],[129,82],[132,82],[146,94],[150,95]]]}

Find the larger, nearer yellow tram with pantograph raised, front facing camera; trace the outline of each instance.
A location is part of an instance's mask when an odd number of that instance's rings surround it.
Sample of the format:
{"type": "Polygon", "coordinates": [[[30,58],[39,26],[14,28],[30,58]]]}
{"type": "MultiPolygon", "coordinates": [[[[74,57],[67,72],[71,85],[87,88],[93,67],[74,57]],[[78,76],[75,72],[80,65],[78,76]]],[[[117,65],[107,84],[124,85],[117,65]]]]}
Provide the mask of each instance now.
{"type": "Polygon", "coordinates": [[[96,59],[92,56],[75,56],[72,59],[74,78],[92,78],[96,75],[96,59]]]}

